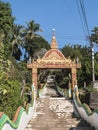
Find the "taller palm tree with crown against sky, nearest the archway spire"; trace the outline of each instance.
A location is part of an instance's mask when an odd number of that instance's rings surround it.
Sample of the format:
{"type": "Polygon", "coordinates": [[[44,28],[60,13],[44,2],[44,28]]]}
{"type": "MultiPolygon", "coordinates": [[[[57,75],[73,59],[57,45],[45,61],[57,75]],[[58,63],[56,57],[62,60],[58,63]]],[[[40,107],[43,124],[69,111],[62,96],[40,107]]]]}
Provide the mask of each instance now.
{"type": "Polygon", "coordinates": [[[34,42],[33,39],[35,37],[40,37],[36,32],[42,32],[40,25],[35,23],[34,20],[30,22],[26,22],[27,27],[24,29],[23,37],[24,37],[24,48],[25,48],[25,57],[28,59],[30,56],[33,55],[34,49],[34,42]]]}

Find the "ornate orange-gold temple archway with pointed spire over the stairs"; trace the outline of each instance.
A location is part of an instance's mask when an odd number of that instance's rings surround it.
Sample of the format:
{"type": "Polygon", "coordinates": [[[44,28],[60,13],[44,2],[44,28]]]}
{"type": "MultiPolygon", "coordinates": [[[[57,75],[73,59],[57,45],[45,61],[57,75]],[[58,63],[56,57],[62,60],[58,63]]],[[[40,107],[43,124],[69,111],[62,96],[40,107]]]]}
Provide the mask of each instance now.
{"type": "Polygon", "coordinates": [[[72,61],[70,58],[65,58],[62,52],[58,49],[58,44],[53,34],[51,49],[48,50],[42,58],[27,64],[28,68],[32,69],[32,82],[35,88],[37,84],[37,71],[38,69],[71,69],[72,89],[77,84],[77,69],[81,67],[80,63],[72,61]]]}

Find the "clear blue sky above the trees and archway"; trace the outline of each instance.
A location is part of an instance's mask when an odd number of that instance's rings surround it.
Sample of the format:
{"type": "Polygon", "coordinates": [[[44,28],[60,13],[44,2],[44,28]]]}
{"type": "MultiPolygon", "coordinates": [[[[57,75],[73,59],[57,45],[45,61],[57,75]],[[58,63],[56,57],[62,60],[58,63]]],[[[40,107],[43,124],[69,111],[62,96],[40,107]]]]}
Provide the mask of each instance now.
{"type": "MultiPolygon", "coordinates": [[[[77,0],[2,0],[9,2],[15,23],[26,26],[26,21],[40,24],[40,33],[49,43],[52,29],[59,48],[66,44],[90,45],[79,15],[77,0]]],[[[89,32],[98,26],[98,0],[83,0],[89,32]]]]}

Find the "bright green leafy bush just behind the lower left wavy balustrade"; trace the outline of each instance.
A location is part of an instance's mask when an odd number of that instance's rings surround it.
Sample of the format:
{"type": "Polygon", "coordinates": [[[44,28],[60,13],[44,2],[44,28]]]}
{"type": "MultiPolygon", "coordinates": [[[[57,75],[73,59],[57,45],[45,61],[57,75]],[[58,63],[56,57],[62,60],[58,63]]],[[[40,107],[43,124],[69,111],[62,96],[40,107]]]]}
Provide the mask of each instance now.
{"type": "Polygon", "coordinates": [[[5,84],[0,84],[0,88],[5,90],[0,93],[0,111],[4,111],[12,119],[17,108],[23,106],[21,85],[18,81],[8,80],[5,84]]]}

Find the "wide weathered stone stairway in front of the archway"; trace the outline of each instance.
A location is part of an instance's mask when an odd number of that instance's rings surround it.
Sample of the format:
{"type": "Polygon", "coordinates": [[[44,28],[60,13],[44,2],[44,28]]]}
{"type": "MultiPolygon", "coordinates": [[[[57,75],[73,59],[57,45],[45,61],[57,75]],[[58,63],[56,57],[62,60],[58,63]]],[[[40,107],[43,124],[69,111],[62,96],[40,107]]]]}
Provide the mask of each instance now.
{"type": "Polygon", "coordinates": [[[51,97],[54,92],[50,95],[47,92],[37,100],[35,112],[25,130],[94,130],[77,116],[71,100],[56,95],[51,97]]]}

